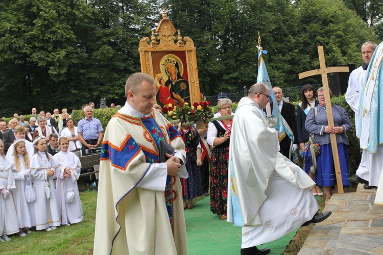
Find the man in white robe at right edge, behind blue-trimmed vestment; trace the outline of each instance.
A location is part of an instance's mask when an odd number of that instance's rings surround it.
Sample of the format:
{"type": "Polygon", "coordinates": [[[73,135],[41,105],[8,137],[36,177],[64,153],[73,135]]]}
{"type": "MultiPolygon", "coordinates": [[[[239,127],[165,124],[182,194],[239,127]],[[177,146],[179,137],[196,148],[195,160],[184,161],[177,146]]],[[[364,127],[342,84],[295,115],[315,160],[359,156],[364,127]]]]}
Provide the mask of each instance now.
{"type": "MultiPolygon", "coordinates": [[[[355,70],[353,70],[350,74],[350,78],[348,80],[348,87],[346,91],[346,101],[347,104],[350,105],[351,109],[355,113],[355,131],[356,135],[360,133],[360,101],[362,90],[366,84],[366,73],[367,67],[370,64],[372,55],[377,47],[376,43],[368,41],[362,45],[362,58],[364,64],[355,70]]],[[[368,76],[368,75],[367,75],[368,76]]],[[[358,136],[361,138],[361,136],[358,136]]],[[[364,142],[361,142],[361,145],[364,142]]],[[[354,181],[365,184],[366,189],[370,189],[369,186],[378,186],[380,169],[382,167],[381,163],[379,163],[382,158],[381,154],[372,154],[367,148],[367,146],[361,146],[363,149],[361,163],[356,170],[356,176],[354,177],[354,181]]],[[[383,150],[381,151],[383,153],[383,150]]]]}

